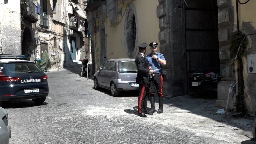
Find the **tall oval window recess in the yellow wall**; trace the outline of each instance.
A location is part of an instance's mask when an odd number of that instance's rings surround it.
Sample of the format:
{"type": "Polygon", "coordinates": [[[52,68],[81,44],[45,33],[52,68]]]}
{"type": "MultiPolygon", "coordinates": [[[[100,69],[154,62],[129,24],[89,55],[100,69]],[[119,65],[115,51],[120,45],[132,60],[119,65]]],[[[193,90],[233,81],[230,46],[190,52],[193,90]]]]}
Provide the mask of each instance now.
{"type": "Polygon", "coordinates": [[[132,3],[128,5],[125,14],[124,37],[127,56],[133,58],[137,50],[138,21],[136,10],[132,3]]]}

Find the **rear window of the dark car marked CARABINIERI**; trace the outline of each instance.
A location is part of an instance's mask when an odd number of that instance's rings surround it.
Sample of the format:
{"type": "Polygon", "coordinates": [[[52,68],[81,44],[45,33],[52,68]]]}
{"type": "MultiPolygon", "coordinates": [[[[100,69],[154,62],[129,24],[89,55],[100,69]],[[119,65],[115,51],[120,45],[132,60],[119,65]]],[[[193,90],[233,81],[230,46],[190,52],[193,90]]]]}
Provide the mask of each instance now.
{"type": "Polygon", "coordinates": [[[4,64],[7,73],[35,73],[42,70],[34,63],[7,63],[4,64]]]}

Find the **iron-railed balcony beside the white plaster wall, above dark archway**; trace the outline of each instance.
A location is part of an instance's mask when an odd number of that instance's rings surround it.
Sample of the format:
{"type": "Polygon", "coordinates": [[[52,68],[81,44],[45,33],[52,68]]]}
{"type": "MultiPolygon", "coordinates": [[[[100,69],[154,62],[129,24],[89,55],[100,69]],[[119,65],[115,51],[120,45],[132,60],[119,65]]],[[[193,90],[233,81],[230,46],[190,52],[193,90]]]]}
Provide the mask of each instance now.
{"type": "Polygon", "coordinates": [[[21,15],[24,19],[31,23],[38,21],[37,6],[32,0],[21,0],[20,2],[21,15]]]}

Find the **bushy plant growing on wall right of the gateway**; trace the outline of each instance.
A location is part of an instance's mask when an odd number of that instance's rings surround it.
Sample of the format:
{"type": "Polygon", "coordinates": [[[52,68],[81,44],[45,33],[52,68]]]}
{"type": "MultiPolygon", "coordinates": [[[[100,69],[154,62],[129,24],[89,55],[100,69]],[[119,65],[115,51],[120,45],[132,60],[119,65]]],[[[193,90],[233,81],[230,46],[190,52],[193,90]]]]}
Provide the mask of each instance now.
{"type": "Polygon", "coordinates": [[[238,48],[240,46],[238,56],[244,56],[246,51],[246,45],[247,45],[247,39],[245,38],[245,35],[241,31],[235,31],[232,33],[230,37],[230,50],[232,54],[236,56],[238,48]],[[240,46],[241,44],[241,46],[240,46]]]}

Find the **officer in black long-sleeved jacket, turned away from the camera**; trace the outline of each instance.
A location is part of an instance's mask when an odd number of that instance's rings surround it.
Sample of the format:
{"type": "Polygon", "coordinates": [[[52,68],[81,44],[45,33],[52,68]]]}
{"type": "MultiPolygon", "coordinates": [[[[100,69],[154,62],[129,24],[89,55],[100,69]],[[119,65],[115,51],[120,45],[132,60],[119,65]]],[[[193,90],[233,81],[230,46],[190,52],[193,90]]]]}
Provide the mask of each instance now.
{"type": "Polygon", "coordinates": [[[136,83],[139,84],[138,113],[140,117],[147,117],[146,114],[153,114],[147,111],[149,73],[154,73],[153,70],[149,69],[148,62],[144,56],[147,46],[147,43],[142,43],[138,46],[139,53],[135,59],[135,63],[138,69],[136,83]]]}

